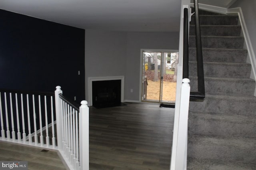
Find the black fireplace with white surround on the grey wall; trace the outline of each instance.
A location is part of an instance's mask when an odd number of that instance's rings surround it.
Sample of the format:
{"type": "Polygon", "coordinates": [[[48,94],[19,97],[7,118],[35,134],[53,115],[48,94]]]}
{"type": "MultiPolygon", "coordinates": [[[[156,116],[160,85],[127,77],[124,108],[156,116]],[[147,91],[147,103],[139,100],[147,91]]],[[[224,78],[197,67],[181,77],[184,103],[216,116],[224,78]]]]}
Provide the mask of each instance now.
{"type": "Polygon", "coordinates": [[[96,108],[122,106],[124,76],[89,77],[89,106],[96,108]]]}

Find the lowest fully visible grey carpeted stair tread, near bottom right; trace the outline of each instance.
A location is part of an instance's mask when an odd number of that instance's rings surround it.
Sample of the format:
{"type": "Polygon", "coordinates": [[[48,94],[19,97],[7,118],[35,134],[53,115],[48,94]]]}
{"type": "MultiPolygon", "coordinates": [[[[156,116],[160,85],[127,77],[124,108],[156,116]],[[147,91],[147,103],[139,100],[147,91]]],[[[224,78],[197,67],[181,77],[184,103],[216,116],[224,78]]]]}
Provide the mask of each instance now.
{"type": "Polygon", "coordinates": [[[190,157],[256,163],[255,138],[188,134],[188,139],[190,157]]]}

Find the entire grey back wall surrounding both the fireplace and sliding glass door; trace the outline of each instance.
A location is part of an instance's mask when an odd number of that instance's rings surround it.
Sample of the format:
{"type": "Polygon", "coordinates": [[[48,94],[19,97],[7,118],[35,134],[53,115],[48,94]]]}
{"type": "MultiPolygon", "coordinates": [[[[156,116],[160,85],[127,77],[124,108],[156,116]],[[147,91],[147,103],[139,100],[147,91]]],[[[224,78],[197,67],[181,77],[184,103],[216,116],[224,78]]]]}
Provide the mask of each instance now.
{"type": "Polygon", "coordinates": [[[88,77],[124,75],[124,100],[139,101],[140,49],[177,50],[178,43],[178,32],[85,30],[86,86],[88,77]]]}

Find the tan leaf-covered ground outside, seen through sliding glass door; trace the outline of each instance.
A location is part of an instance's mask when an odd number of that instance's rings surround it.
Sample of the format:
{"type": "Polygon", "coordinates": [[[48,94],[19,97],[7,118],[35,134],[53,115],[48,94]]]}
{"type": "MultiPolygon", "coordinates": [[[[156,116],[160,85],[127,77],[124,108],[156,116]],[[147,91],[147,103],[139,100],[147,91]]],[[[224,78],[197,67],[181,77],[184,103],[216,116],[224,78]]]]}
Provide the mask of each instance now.
{"type": "MultiPolygon", "coordinates": [[[[160,80],[154,82],[147,80],[147,100],[159,101],[160,95],[160,80]]],[[[163,97],[164,102],[175,102],[176,98],[176,82],[163,81],[163,97]]]]}

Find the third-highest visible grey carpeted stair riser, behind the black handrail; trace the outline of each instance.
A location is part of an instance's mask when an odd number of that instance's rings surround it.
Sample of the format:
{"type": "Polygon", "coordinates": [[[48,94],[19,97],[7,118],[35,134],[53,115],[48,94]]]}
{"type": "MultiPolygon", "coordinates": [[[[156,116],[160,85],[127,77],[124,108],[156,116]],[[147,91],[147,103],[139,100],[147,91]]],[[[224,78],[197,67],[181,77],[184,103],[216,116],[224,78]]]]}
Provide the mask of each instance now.
{"type": "MultiPolygon", "coordinates": [[[[201,25],[201,35],[211,36],[240,36],[241,26],[238,25],[201,25]]],[[[190,35],[195,35],[195,25],[190,25],[190,35]]]]}

